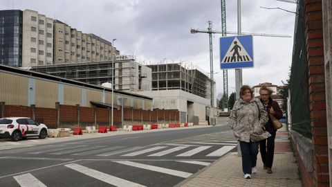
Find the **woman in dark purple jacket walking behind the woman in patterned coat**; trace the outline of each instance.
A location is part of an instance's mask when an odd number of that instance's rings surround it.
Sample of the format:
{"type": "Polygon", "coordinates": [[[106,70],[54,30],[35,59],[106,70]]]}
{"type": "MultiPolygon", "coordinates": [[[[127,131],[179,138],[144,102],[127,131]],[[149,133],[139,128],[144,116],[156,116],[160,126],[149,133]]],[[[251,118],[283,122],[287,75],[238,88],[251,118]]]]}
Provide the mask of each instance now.
{"type": "MultiPolygon", "coordinates": [[[[259,94],[261,95],[260,100],[264,105],[264,109],[268,114],[272,114],[275,118],[279,119],[282,118],[282,110],[277,101],[272,100],[272,93],[273,91],[266,87],[266,85],[263,85],[261,89],[259,89],[259,94]]],[[[273,128],[270,115],[268,115],[268,122],[265,124],[265,129],[270,132],[271,136],[259,141],[259,150],[261,152],[261,159],[264,163],[264,170],[266,170],[267,173],[272,173],[273,154],[275,154],[275,134],[277,130],[273,128]]]]}

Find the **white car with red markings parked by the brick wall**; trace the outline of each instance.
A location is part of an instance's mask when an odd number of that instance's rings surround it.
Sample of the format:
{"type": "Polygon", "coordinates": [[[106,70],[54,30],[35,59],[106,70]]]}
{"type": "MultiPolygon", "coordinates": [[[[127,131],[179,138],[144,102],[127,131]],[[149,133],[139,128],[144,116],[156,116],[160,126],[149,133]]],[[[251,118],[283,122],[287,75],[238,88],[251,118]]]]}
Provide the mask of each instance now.
{"type": "Polygon", "coordinates": [[[26,117],[0,118],[0,138],[19,141],[30,136],[39,136],[39,139],[45,139],[47,136],[46,125],[26,117]]]}

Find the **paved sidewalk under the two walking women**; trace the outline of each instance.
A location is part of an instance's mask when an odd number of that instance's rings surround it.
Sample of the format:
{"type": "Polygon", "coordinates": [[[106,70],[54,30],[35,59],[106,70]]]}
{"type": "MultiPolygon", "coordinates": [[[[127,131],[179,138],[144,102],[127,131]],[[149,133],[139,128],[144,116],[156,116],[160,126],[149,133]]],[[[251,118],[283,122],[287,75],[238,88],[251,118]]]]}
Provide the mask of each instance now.
{"type": "Polygon", "coordinates": [[[241,165],[241,157],[237,152],[231,152],[176,186],[302,186],[286,125],[277,132],[272,174],[263,169],[260,154],[257,157],[257,174],[253,174],[252,179],[243,178],[241,165]]]}

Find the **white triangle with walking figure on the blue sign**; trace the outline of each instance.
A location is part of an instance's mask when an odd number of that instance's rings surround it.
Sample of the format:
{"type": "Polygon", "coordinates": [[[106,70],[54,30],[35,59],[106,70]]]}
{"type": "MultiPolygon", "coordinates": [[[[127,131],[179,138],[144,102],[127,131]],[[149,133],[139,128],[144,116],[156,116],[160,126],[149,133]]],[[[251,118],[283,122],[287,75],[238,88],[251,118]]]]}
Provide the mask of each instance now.
{"type": "Polygon", "coordinates": [[[230,48],[228,48],[227,53],[223,57],[221,63],[227,62],[251,62],[252,58],[247,53],[246,48],[243,47],[239,39],[234,37],[230,48]]]}

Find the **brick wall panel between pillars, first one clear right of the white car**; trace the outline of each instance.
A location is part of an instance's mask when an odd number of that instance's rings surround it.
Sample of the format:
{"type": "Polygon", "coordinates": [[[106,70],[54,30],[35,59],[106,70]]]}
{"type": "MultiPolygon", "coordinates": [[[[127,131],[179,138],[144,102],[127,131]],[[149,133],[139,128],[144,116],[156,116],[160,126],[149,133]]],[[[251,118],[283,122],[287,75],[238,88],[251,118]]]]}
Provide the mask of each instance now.
{"type": "Polygon", "coordinates": [[[77,106],[60,105],[60,123],[77,124],[77,106]]]}

